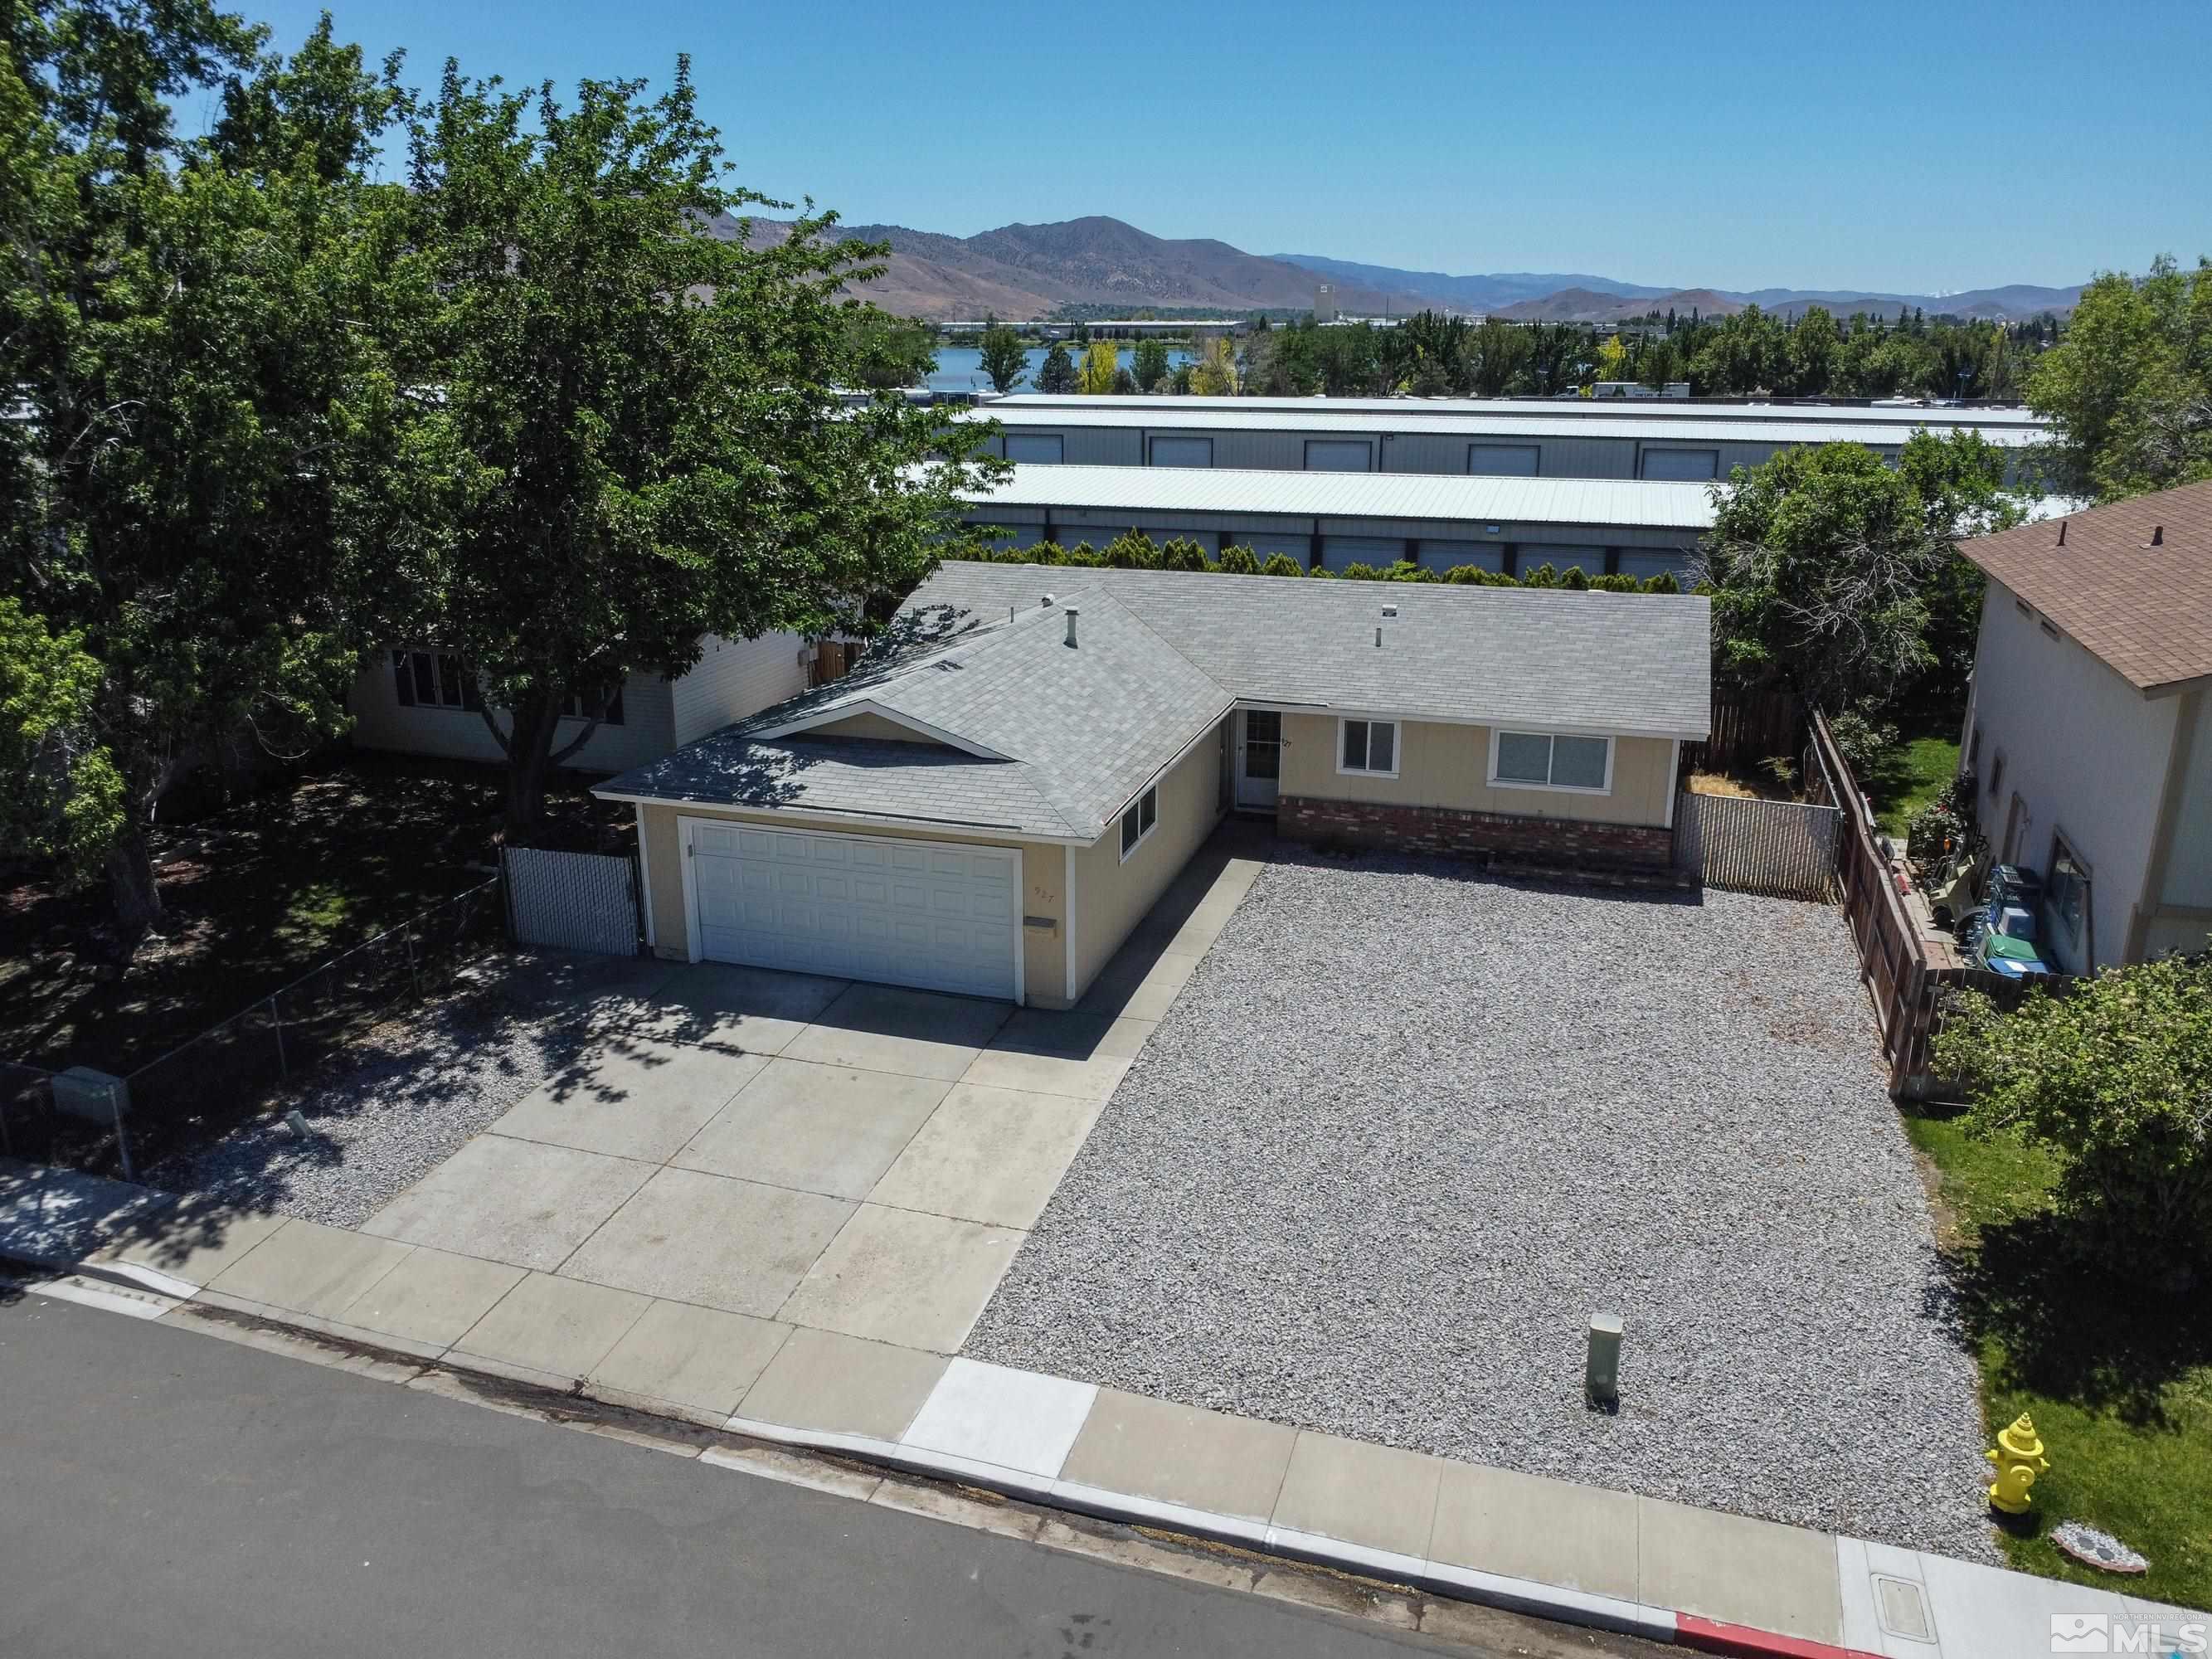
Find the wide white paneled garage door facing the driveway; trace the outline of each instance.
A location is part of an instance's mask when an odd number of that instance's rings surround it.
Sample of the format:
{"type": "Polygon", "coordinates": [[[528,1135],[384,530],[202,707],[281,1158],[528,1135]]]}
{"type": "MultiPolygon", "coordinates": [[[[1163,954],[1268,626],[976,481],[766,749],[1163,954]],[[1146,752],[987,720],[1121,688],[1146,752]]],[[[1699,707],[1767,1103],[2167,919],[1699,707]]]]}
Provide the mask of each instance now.
{"type": "Polygon", "coordinates": [[[1020,854],[686,818],[710,962],[1015,998],[1020,854]]]}

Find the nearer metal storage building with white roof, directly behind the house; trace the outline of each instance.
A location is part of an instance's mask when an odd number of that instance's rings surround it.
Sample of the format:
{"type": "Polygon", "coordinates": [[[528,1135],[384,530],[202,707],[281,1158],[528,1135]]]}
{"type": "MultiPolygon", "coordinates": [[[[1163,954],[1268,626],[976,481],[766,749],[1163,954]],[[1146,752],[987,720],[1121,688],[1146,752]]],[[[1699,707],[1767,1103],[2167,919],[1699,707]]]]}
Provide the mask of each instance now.
{"type": "Polygon", "coordinates": [[[1688,566],[1712,529],[1712,498],[1694,482],[1060,465],[1015,467],[1011,482],[975,498],[969,522],[1006,531],[1000,544],[1015,549],[1104,546],[1139,531],[1325,571],[1413,560],[1431,571],[1520,575],[1551,564],[1650,577],[1688,566]]]}

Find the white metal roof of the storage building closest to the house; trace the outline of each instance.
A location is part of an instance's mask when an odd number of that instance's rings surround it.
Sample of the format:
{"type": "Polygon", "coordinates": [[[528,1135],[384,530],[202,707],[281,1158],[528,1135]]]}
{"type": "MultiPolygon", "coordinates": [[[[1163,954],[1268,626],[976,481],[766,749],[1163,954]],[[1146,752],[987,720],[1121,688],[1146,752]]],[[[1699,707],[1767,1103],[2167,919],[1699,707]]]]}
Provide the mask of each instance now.
{"type": "Polygon", "coordinates": [[[1015,467],[978,507],[1117,513],[1491,520],[1712,529],[1708,484],[1644,478],[1467,478],[1460,473],[1292,473],[1237,467],[1015,467]]]}

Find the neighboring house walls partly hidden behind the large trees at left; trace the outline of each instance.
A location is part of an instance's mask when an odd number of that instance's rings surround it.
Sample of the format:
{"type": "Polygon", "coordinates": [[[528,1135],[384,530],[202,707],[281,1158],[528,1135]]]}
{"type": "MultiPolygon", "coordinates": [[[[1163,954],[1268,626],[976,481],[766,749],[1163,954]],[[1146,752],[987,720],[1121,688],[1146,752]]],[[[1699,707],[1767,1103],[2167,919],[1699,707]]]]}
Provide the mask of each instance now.
{"type": "MultiPolygon", "coordinates": [[[[630,675],[608,706],[599,730],[566,765],[580,772],[622,772],[659,759],[672,748],[759,712],[805,690],[814,646],[794,633],[759,639],[708,635],[699,664],[677,679],[630,675]]],[[[504,761],[484,730],[482,699],[462,659],[451,650],[394,648],[376,653],[347,697],[354,743],[400,754],[438,754],[453,761],[504,761]]],[[[586,710],[571,706],[553,748],[575,741],[586,710]]],[[[504,730],[504,717],[493,710],[504,730]]]]}

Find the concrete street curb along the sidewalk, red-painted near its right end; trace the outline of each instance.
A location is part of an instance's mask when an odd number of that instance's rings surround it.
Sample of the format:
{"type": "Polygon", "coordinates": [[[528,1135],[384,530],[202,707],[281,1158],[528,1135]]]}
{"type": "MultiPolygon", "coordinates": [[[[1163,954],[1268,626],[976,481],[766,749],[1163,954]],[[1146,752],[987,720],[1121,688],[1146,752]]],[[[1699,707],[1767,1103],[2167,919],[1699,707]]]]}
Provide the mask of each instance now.
{"type": "MultiPolygon", "coordinates": [[[[0,1263],[7,1261],[24,1261],[24,1259],[13,1254],[0,1254],[0,1263]]],[[[204,1287],[190,1285],[188,1281],[173,1279],[150,1267],[137,1267],[133,1263],[33,1261],[29,1265],[35,1265],[44,1272],[73,1272],[86,1279],[104,1279],[108,1283],[128,1285],[131,1290],[139,1292],[155,1290],[164,1296],[179,1298],[186,1307],[195,1305],[217,1307],[215,1303],[197,1301],[204,1287]]],[[[221,1310],[217,1307],[217,1312],[221,1310]]],[[[237,1312],[246,1314],[246,1310],[237,1312]]],[[[274,1325],[285,1332],[299,1332],[301,1336],[314,1338],[316,1343],[352,1345],[332,1332],[319,1332],[312,1325],[301,1325],[294,1323],[292,1318],[279,1318],[281,1312],[283,1310],[254,1310],[252,1314],[246,1316],[263,1325],[274,1325]]],[[[566,1389],[549,1387],[538,1380],[502,1376],[498,1371],[469,1363],[467,1356],[453,1356],[451,1352],[429,1360],[418,1356],[407,1356],[405,1363],[491,1385],[493,1391],[498,1391],[500,1396],[546,1396],[549,1405],[566,1402],[571,1407],[575,1405],[577,1398],[566,1389]]],[[[706,1427],[701,1422],[677,1418],[666,1411],[644,1409],[635,1402],[635,1396],[624,1400],[602,1400],[599,1396],[586,1389],[582,1398],[591,1400],[593,1405],[613,1407],[617,1411],[635,1411],[639,1416],[653,1416],[672,1425],[681,1425],[686,1433],[699,1433],[699,1429],[706,1427]]],[[[1670,1608],[1621,1601],[1617,1597],[1588,1595],[1584,1590],[1571,1590],[1557,1584],[1542,1584],[1537,1579],[1517,1579],[1498,1573],[1484,1573],[1480,1568],[1453,1566],[1449,1562],[1429,1562],[1413,1555],[1394,1555],[1389,1551],[1374,1551],[1360,1544],[1347,1544],[1343,1540],[1323,1537],[1318,1533],[1292,1533],[1281,1526],[1270,1526],[1267,1522],[1219,1515],[1214,1511],[1190,1509],[1186,1504],[1168,1504],[1168,1502],[1135,1498],[1128,1493],[1106,1491],[1102,1486],[1086,1486],[1048,1475],[1024,1473],[1020,1469],[1006,1469],[1002,1464],[987,1464],[973,1458],[960,1458],[942,1451],[925,1451],[920,1447],[907,1447],[896,1440],[878,1440],[874,1436],[838,1433],[834,1429],[792,1429],[776,1422],[763,1422],[759,1418],[737,1418],[737,1416],[723,1420],[719,1429],[721,1433],[768,1447],[856,1458],[887,1471],[925,1475],[929,1480],[945,1480],[958,1486],[991,1491],[1002,1498],[1037,1504],[1042,1509],[1053,1509],[1068,1515],[1086,1515],[1093,1520],[1106,1520],[1121,1526],[1137,1526],[1146,1531],[1183,1533],[1194,1540],[1252,1551],[1254,1555],[1270,1555],[1287,1564],[1323,1566],[1327,1571],[1345,1573],[1349,1577],[1400,1584],[1407,1588],[1425,1590],[1429,1595],[1447,1597],[1451,1601],[1489,1606],[1502,1613],[1520,1613],[1526,1617],[1551,1619],[1555,1624],[1571,1624],[1586,1630],[1595,1628],[1595,1630],[1608,1630],[1613,1635],[1641,1637],[1646,1641],[1666,1641],[1683,1648],[1694,1648],[1699,1652],[1723,1655],[1725,1659],[1882,1659],[1880,1655],[1865,1652],[1863,1648],[1838,1648],[1825,1641],[1785,1637],[1772,1630],[1754,1630],[1741,1624],[1721,1624],[1717,1619],[1703,1619],[1694,1613],[1674,1613],[1670,1608]]],[[[706,1458],[706,1462],[712,1462],[714,1467],[737,1467],[743,1471],[743,1464],[732,1464],[719,1458],[706,1458]]],[[[834,1486],[830,1489],[834,1491],[834,1486]]]]}

